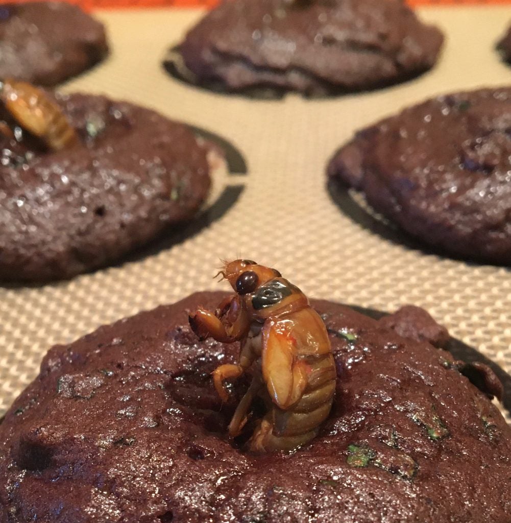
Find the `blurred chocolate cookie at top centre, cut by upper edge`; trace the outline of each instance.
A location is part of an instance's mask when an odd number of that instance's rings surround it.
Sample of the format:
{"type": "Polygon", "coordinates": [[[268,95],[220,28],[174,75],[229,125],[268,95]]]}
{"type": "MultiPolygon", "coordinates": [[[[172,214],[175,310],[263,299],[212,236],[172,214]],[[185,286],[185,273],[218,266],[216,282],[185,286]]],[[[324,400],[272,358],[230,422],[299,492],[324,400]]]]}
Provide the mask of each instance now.
{"type": "MultiPolygon", "coordinates": [[[[402,0],[234,0],[188,33],[178,70],[226,92],[327,95],[420,74],[442,42],[402,0]]],[[[176,65],[174,54],[169,60],[176,65]]]]}

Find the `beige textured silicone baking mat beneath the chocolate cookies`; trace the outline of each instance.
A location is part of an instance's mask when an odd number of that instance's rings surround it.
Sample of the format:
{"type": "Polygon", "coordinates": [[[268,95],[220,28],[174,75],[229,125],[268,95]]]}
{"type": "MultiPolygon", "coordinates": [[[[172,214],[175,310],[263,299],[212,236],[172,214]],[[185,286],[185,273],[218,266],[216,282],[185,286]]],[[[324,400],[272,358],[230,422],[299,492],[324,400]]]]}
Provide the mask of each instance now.
{"type": "Polygon", "coordinates": [[[494,51],[509,7],[420,9],[446,35],[438,66],[388,89],[323,100],[222,96],[183,85],[161,68],[199,10],[98,12],[112,53],[64,90],[105,93],[145,104],[213,131],[236,145],[248,175],[214,179],[214,193],[245,184],[240,198],[209,228],[156,254],[42,287],[0,287],[0,414],[36,376],[55,343],[72,342],[104,323],[198,289],[219,258],[272,265],[306,293],[380,310],[427,308],[452,335],[511,371],[511,274],[414,251],[351,221],[330,199],[325,167],[353,132],[426,97],[511,83],[494,51]]]}

